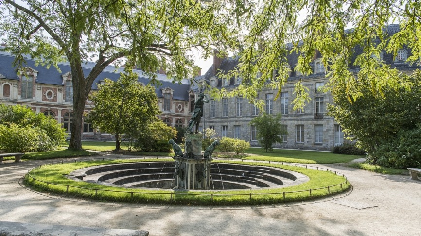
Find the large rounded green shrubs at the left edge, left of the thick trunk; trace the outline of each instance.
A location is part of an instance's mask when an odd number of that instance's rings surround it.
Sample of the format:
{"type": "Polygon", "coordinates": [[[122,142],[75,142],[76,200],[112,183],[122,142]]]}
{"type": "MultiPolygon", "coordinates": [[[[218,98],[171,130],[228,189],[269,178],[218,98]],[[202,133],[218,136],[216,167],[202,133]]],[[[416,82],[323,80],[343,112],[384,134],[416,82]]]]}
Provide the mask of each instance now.
{"type": "Polygon", "coordinates": [[[58,149],[67,136],[61,124],[30,108],[0,104],[0,147],[8,152],[58,149]]]}

